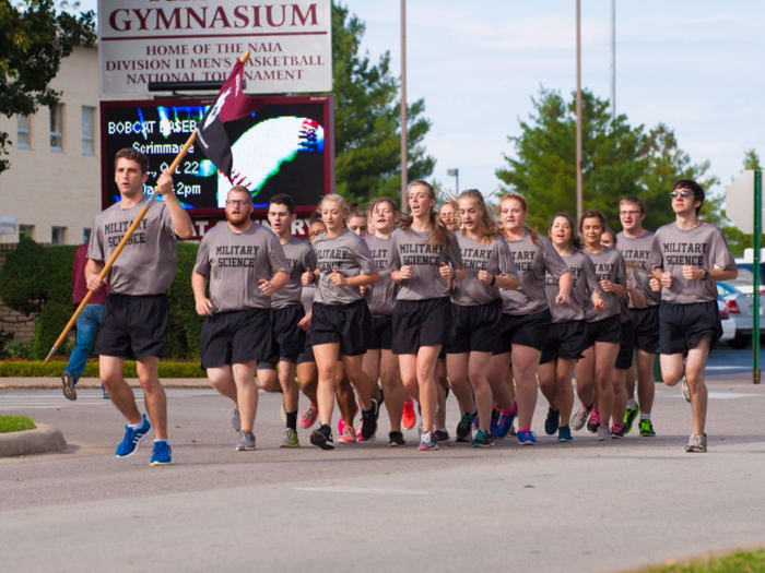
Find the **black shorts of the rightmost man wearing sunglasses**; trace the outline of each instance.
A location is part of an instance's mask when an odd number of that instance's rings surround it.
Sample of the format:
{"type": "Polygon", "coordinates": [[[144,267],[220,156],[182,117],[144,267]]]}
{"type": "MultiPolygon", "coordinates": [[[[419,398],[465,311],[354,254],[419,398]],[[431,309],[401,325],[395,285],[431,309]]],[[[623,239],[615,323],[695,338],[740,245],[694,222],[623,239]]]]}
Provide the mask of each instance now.
{"type": "Polygon", "coordinates": [[[722,336],[720,310],[716,300],[691,305],[662,302],[659,319],[661,354],[687,355],[688,350],[695,348],[704,338],[714,344],[722,336]]]}

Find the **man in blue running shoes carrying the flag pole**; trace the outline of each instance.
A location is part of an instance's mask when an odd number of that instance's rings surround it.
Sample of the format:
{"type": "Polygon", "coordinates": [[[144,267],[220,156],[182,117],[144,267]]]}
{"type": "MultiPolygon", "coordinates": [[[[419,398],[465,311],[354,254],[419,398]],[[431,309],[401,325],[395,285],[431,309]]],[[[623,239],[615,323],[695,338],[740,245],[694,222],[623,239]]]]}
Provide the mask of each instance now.
{"type": "MultiPolygon", "coordinates": [[[[104,262],[122,240],[143,205],[143,183],[149,179],[149,159],[141,152],[125,148],[115,157],[115,181],[120,201],[96,215],[87,250],[87,288],[98,291],[106,280],[99,276],[104,262]]],[[[101,381],[117,409],[125,416],[125,438],[117,457],[136,453],[138,444],[154,428],[151,465],[170,463],[167,441],[167,402],[160,383],[158,365],[167,338],[169,310],[167,290],[175,278],[176,240],[193,235],[191,219],[173,191],[173,178],[164,171],[156,182],[162,202],[149,202],[134,232],[114,262],[108,275],[110,286],[96,353],[101,381]],[[136,357],[136,369],[145,395],[141,415],[132,390],[122,378],[125,358],[136,357]]]]}

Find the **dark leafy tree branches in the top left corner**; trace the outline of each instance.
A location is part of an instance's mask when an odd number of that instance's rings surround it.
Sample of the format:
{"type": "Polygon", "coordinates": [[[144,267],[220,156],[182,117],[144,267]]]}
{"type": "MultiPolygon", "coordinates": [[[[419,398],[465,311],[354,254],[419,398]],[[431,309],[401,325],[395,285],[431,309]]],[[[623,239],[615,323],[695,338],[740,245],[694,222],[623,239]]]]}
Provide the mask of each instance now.
{"type": "MultiPolygon", "coordinates": [[[[25,0],[12,7],[0,0],[0,114],[30,116],[39,106],[56,105],[61,94],[49,87],[61,60],[75,46],[93,46],[93,12],[57,12],[52,0],[25,0]]],[[[0,174],[10,167],[1,157],[12,145],[0,131],[0,174]]]]}

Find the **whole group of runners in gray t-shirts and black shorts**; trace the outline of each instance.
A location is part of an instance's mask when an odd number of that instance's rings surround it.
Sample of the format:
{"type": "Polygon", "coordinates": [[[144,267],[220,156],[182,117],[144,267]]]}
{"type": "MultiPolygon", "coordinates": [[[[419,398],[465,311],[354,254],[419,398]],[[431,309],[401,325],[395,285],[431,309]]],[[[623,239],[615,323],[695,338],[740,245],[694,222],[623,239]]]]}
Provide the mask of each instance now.
{"type": "MultiPolygon", "coordinates": [[[[121,201],[93,225],[92,290],[103,287],[98,272],[142,206],[148,179],[143,154],[122,150],[115,162],[121,201]]],[[[172,189],[165,172],[164,201],[151,204],[110,271],[96,344],[102,381],[127,421],[116,455],[132,455],[153,429],[152,465],[172,459],[157,363],[176,239],[192,235],[172,189]],[[148,417],[122,378],[129,356],[148,417]]],[[[387,198],[362,211],[326,195],[308,242],[291,235],[289,195],[270,200],[268,228],[251,220],[251,193],[233,187],[226,220],[201,240],[191,285],[205,317],[202,367],[233,402],[236,450],[256,449],[258,386],[282,394],[282,447],[299,445],[299,423],[313,428],[314,445],[332,450],[337,402],[339,443],[376,439],[385,409],[389,445],[404,445],[416,404],[419,450],[437,450],[451,439],[450,393],[460,413],[456,441],[486,447],[515,434],[533,445],[539,390],[549,406],[544,431],[560,442],[582,428],[599,441],[624,438],[638,416],[639,435],[649,438],[660,354],[664,383],[682,381],[692,405],[685,451],[705,452],[704,368],[721,335],[715,280],[738,272],[720,229],[698,219],[703,188],[680,180],[670,195],[675,220],[656,234],[643,228],[637,196],[620,202],[619,235],[599,211],[579,222],[558,213],[542,234],[526,225],[519,194],[501,199],[497,220],[475,189],[437,211],[434,188],[420,180],[409,186],[407,214],[387,198]]]]}

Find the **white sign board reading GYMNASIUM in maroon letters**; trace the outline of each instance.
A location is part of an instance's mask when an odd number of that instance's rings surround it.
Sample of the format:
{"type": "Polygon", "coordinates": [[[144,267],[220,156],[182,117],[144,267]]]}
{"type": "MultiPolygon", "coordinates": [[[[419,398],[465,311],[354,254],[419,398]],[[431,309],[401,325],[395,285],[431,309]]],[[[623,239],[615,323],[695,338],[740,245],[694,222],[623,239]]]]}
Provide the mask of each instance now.
{"type": "Polygon", "coordinates": [[[248,50],[248,94],[330,92],[330,0],[98,0],[102,96],[222,82],[248,50]]]}

